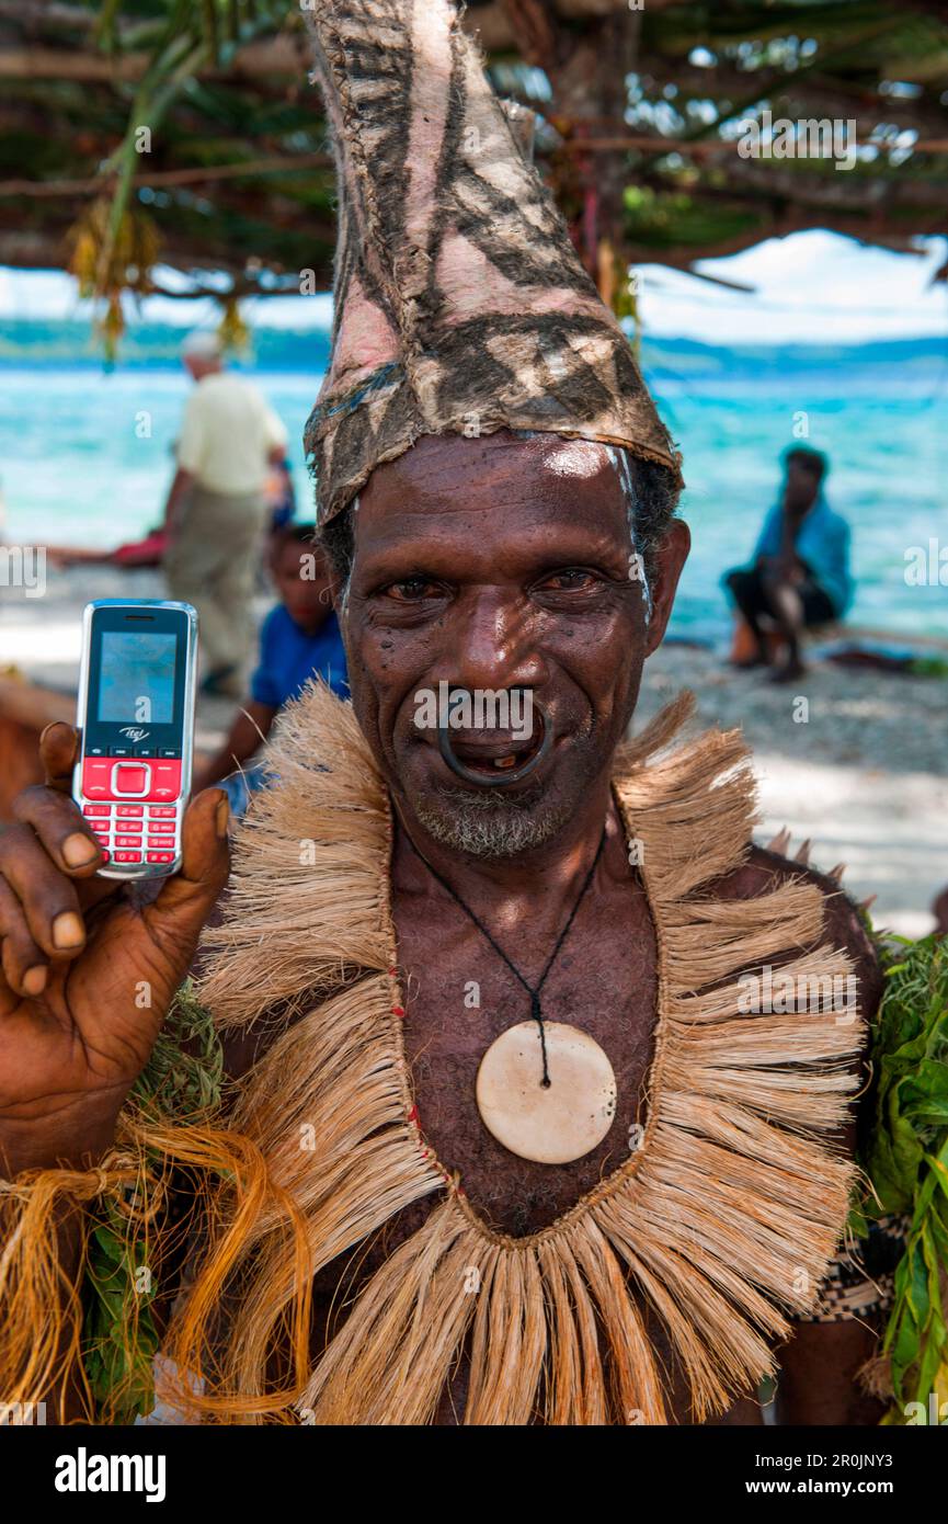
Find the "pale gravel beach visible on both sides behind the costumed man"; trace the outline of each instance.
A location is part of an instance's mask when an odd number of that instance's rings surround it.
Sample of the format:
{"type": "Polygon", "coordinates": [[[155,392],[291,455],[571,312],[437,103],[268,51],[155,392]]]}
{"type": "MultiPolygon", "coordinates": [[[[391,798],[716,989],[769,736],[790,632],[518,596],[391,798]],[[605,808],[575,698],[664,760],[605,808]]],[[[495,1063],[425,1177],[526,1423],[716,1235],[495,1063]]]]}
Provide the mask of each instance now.
{"type": "MultiPolygon", "coordinates": [[[[117,596],[162,597],[160,576],[50,568],[43,597],[5,590],[0,668],[75,693],[82,605],[117,596]]],[[[267,608],[261,594],[255,613],[267,608]]],[[[697,695],[697,727],[744,728],[761,783],[759,841],[789,828],[791,852],[809,838],[817,867],[846,863],[849,893],[878,896],[876,925],[905,936],[931,930],[931,902],[948,884],[945,678],[817,663],[800,684],[777,687],[759,672],[735,672],[712,651],[666,643],[646,664],[637,724],[683,687],[697,695]]],[[[201,700],[200,745],[219,744],[232,709],[201,700]]]]}

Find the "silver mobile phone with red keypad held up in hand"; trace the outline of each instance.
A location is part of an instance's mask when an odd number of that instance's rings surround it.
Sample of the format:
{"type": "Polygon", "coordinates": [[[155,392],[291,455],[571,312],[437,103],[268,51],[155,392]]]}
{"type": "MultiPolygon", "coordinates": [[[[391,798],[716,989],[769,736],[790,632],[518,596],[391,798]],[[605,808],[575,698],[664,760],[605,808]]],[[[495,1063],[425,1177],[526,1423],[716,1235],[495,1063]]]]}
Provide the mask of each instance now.
{"type": "Polygon", "coordinates": [[[191,604],[102,597],[82,611],[73,799],[105,853],[104,878],[181,866],[197,655],[191,604]]]}

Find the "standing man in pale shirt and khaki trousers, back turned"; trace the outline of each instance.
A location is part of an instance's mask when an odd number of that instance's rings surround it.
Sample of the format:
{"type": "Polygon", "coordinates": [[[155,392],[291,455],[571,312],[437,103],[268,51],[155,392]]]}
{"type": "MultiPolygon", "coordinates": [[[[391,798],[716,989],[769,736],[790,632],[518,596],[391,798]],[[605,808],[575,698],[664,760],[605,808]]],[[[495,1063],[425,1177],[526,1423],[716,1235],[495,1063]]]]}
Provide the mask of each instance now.
{"type": "Polygon", "coordinates": [[[171,596],[198,610],[201,687],[239,698],[253,649],[264,485],[285,456],[287,430],[251,381],[224,370],[215,334],[191,334],[181,355],[197,384],[165,507],[165,575],[171,596]]]}

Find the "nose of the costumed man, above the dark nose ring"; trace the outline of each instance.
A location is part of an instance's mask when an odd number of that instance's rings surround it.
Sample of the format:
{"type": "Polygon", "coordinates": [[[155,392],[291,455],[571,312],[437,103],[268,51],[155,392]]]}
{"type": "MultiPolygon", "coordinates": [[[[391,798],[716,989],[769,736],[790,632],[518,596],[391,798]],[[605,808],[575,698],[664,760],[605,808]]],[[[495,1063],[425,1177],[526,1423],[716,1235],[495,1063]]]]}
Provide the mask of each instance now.
{"type": "Polygon", "coordinates": [[[546,680],[536,620],[523,594],[471,591],[456,604],[448,634],[456,687],[538,687],[546,680]]]}

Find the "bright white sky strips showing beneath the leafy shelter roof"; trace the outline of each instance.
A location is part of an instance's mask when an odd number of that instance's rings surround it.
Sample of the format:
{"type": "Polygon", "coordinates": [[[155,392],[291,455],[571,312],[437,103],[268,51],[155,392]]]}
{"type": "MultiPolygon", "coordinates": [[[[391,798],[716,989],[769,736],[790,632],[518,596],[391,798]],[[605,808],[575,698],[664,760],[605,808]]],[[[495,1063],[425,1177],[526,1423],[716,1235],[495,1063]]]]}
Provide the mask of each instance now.
{"type": "MultiPolygon", "coordinates": [[[[858,344],[879,338],[948,335],[948,282],[933,285],[948,259],[948,239],[919,239],[918,255],[863,247],[815,229],[771,238],[727,259],[703,259],[697,270],[751,287],[732,291],[666,265],[642,265],[642,315],[655,337],[727,343],[858,344]]],[[[165,285],[181,283],[162,270],[165,285]]],[[[332,302],[319,296],[248,299],[251,328],[328,329],[332,302]]],[[[61,271],[0,267],[0,319],[81,317],[88,303],[61,271]]],[[[133,315],[133,314],[130,314],[133,315]]],[[[143,315],[183,328],[216,326],[219,308],[149,297],[143,315]]]]}

